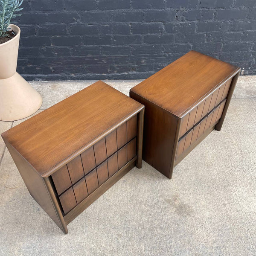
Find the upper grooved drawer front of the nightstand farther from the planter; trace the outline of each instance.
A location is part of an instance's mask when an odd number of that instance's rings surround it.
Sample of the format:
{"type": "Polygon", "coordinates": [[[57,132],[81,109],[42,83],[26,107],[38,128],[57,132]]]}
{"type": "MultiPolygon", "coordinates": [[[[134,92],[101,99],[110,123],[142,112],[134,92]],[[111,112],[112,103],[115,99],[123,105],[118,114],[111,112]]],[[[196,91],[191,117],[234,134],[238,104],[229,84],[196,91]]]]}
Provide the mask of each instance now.
{"type": "Polygon", "coordinates": [[[232,78],[218,87],[214,92],[206,97],[198,106],[193,108],[181,119],[180,136],[182,137],[189,129],[203,119],[212,111],[223,99],[227,97],[232,78]]]}

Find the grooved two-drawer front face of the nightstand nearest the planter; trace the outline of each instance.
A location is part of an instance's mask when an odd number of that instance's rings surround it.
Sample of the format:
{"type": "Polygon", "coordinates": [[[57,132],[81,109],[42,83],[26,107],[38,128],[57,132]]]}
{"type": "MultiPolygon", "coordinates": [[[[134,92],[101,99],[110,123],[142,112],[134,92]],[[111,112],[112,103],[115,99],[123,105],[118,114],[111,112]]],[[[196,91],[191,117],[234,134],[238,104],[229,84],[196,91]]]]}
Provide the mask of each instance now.
{"type": "Polygon", "coordinates": [[[64,214],[136,157],[137,115],[52,174],[64,214]]]}

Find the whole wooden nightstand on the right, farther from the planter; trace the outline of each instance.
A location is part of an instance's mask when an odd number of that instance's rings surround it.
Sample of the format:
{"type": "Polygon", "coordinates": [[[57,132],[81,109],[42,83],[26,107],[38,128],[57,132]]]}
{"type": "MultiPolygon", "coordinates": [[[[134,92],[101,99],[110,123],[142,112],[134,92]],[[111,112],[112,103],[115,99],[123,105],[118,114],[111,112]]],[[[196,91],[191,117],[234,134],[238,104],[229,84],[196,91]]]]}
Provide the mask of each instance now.
{"type": "Polygon", "coordinates": [[[143,160],[173,168],[213,129],[220,131],[240,68],[191,51],[130,90],[145,105],[143,160]]]}

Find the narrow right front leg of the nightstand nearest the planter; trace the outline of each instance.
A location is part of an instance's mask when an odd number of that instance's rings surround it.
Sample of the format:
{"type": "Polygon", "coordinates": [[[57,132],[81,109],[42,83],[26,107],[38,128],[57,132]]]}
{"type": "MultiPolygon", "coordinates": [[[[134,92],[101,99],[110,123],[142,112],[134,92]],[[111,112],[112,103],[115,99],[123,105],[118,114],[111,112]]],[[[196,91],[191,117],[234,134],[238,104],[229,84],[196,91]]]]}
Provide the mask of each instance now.
{"type": "Polygon", "coordinates": [[[140,113],[137,114],[137,160],[136,167],[141,168],[142,165],[142,145],[143,145],[143,126],[144,126],[144,112],[143,108],[140,113]]]}

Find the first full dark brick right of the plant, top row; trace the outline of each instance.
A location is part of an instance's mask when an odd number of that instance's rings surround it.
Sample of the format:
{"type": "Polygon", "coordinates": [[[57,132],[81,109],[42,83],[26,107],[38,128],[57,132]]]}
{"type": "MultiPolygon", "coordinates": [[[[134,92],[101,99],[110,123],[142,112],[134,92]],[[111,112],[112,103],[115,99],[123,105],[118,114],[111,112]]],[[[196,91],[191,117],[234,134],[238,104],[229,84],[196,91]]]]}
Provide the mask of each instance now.
{"type": "Polygon", "coordinates": [[[63,0],[33,0],[31,1],[32,11],[61,11],[63,10],[63,0]]]}

